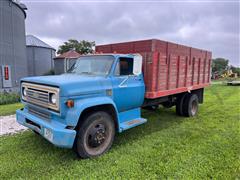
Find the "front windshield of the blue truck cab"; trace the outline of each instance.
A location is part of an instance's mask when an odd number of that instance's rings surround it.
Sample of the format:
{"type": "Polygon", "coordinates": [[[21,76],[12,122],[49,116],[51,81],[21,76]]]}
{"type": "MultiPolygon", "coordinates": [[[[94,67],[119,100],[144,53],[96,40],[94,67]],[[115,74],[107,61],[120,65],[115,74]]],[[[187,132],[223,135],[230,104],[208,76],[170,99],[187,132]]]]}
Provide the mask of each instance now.
{"type": "Polygon", "coordinates": [[[68,73],[108,75],[113,60],[113,56],[82,56],[71,66],[68,73]]]}

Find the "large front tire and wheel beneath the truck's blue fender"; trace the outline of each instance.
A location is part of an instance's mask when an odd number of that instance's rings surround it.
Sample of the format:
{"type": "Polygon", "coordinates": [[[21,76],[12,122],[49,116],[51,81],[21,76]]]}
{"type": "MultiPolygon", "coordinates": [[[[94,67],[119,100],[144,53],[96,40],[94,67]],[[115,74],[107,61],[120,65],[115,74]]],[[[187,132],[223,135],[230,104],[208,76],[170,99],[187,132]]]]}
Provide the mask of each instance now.
{"type": "Polygon", "coordinates": [[[100,156],[111,148],[114,136],[112,117],[103,111],[94,112],[80,124],[74,149],[84,159],[100,156]]]}

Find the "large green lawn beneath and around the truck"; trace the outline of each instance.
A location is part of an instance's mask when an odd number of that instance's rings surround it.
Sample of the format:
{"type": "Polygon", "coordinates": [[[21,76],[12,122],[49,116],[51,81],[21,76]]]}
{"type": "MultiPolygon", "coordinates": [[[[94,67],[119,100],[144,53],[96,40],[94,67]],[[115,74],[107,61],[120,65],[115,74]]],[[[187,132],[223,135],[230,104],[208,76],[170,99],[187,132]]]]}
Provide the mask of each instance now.
{"type": "Polygon", "coordinates": [[[240,178],[240,88],[206,89],[199,115],[144,111],[148,123],[118,134],[105,155],[81,160],[27,131],[0,138],[0,179],[240,178]]]}

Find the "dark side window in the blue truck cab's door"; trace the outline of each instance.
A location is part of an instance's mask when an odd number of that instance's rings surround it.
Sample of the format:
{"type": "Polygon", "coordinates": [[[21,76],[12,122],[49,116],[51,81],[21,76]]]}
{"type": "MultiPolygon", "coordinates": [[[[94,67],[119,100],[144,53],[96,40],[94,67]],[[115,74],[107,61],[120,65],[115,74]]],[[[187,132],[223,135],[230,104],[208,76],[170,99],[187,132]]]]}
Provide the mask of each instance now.
{"type": "Polygon", "coordinates": [[[116,76],[127,76],[133,74],[133,58],[120,58],[116,66],[116,76]]]}

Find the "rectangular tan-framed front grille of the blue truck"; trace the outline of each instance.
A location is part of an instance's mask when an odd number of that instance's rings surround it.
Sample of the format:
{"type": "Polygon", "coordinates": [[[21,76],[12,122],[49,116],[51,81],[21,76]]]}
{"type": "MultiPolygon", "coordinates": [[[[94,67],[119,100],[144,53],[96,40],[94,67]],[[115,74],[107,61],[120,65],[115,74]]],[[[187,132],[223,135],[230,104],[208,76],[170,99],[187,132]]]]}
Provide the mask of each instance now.
{"type": "Polygon", "coordinates": [[[23,82],[21,87],[22,90],[23,88],[26,90],[26,96],[22,95],[22,99],[27,103],[59,111],[59,88],[27,82],[23,82]],[[50,102],[50,94],[56,94],[58,97],[55,104],[50,102]]]}

